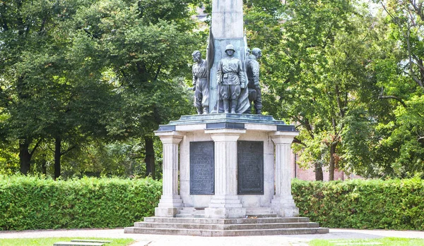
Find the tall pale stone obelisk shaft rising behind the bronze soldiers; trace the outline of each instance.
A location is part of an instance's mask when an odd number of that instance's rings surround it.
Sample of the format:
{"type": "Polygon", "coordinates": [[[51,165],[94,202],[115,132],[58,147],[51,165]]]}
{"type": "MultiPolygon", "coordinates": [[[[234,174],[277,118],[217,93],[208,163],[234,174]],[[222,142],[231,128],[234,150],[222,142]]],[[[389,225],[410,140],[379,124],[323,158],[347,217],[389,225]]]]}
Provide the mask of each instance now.
{"type": "MultiPolygon", "coordinates": [[[[213,34],[213,66],[209,84],[209,109],[216,113],[218,109],[218,84],[216,72],[220,59],[227,56],[225,47],[232,44],[235,48],[235,58],[245,63],[245,39],[243,33],[243,1],[242,0],[213,0],[211,32],[213,34]]],[[[246,71],[245,71],[246,72],[246,71]]],[[[247,79],[247,75],[245,75],[247,79]]],[[[242,90],[237,105],[237,113],[244,113],[249,108],[248,90],[242,90]]]]}

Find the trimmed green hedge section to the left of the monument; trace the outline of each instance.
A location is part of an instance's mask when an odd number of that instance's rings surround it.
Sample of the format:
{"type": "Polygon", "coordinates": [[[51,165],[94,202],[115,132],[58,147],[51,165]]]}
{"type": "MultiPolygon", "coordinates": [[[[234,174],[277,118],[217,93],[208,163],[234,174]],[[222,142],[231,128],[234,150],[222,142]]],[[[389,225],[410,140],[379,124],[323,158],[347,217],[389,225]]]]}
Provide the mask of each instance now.
{"type": "Polygon", "coordinates": [[[0,176],[0,230],[131,226],[157,207],[162,183],[0,176]]]}

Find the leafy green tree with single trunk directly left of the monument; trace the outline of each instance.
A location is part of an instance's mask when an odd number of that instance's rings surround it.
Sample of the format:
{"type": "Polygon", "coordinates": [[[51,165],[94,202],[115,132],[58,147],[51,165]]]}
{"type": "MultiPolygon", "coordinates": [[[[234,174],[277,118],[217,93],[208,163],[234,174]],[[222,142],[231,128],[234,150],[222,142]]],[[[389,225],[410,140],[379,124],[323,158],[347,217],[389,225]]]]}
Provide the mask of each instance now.
{"type": "Polygon", "coordinates": [[[95,1],[76,24],[105,54],[102,62],[119,97],[107,120],[110,135],[141,137],[146,174],[153,177],[153,130],[191,110],[184,82],[195,41],[189,3],[95,1]]]}

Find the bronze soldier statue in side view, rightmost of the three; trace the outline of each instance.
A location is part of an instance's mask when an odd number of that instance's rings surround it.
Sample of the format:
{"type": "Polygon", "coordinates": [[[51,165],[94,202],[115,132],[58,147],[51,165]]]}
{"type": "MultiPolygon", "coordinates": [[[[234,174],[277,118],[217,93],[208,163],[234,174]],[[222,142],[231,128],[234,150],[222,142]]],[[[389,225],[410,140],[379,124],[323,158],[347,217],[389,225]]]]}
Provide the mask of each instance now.
{"type": "Polygon", "coordinates": [[[262,51],[259,48],[252,49],[252,55],[247,59],[247,79],[249,83],[247,87],[249,89],[249,102],[250,107],[246,113],[252,113],[252,106],[256,114],[262,114],[262,95],[261,86],[259,85],[259,60],[262,56],[262,51]]]}

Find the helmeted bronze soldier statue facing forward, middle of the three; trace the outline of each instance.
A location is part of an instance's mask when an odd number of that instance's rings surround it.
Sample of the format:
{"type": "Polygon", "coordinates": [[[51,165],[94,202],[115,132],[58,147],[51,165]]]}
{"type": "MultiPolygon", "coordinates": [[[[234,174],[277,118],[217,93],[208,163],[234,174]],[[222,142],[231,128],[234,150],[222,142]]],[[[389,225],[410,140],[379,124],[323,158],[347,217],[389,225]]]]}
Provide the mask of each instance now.
{"type": "Polygon", "coordinates": [[[246,87],[242,61],[234,57],[232,44],[225,47],[228,57],[220,60],[216,75],[219,85],[219,97],[223,100],[224,113],[236,113],[241,89],[246,87]]]}

